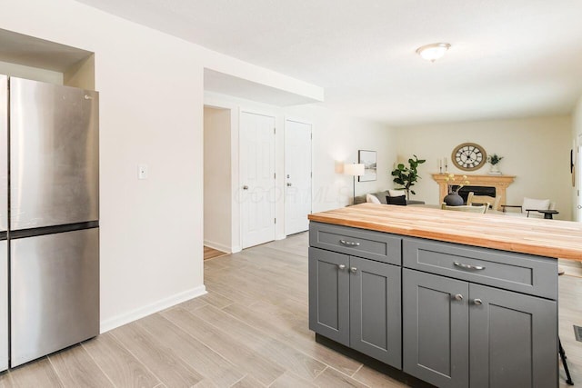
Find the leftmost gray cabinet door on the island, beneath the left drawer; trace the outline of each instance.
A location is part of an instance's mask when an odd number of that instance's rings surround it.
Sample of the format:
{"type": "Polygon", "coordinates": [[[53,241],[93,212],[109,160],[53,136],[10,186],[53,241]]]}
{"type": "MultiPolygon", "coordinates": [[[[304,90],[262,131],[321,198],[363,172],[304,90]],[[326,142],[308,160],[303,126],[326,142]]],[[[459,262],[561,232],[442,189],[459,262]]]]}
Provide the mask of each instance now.
{"type": "Polygon", "coordinates": [[[309,329],[349,345],[349,256],[309,248],[309,329]]]}

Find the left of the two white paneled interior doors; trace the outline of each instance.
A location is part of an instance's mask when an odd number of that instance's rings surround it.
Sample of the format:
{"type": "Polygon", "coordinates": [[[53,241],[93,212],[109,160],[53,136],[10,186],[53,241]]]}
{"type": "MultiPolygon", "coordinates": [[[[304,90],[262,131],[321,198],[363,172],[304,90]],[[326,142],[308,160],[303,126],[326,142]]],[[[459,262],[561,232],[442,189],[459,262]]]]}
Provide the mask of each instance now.
{"type": "Polygon", "coordinates": [[[275,117],[240,114],[241,243],[275,240],[275,117]]]}

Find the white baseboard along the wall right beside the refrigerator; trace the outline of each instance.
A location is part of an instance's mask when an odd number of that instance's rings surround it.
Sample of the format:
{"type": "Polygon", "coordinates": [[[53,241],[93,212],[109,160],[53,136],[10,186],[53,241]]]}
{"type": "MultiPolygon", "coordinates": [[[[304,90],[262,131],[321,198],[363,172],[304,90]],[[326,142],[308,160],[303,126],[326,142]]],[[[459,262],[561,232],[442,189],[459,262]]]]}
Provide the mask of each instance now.
{"type": "Polygon", "coordinates": [[[126,323],[134,322],[140,318],[143,318],[152,313],[157,313],[159,311],[165,310],[168,307],[172,307],[178,303],[186,302],[190,299],[196,298],[196,296],[204,295],[206,292],[206,286],[200,285],[198,287],[187,290],[183,293],[176,293],[165,299],[157,301],[155,303],[147,304],[146,306],[137,308],[129,313],[122,313],[113,318],[109,318],[100,324],[100,333],[105,333],[110,330],[115,329],[115,327],[123,326],[126,323]]]}

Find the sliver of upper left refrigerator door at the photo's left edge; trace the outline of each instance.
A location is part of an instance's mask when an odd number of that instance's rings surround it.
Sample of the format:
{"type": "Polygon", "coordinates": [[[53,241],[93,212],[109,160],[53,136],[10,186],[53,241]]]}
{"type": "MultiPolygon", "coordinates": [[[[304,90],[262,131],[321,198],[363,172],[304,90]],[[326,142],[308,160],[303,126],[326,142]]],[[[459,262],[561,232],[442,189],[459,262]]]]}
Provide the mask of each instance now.
{"type": "Polygon", "coordinates": [[[0,75],[0,231],[8,230],[8,77],[0,75]]]}

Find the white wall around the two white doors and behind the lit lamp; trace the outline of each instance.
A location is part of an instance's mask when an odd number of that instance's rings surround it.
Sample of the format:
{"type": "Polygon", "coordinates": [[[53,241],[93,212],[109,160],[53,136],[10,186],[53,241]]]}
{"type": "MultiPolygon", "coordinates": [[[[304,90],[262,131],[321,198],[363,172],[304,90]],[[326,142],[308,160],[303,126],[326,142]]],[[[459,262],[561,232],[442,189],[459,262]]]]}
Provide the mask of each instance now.
{"type": "MultiPolygon", "coordinates": [[[[385,125],[347,117],[316,105],[278,107],[259,104],[227,95],[205,94],[205,104],[231,110],[232,186],[233,197],[233,252],[240,250],[240,204],[237,198],[238,180],[238,117],[240,111],[267,114],[276,117],[276,188],[284,193],[285,185],[285,119],[313,124],[313,212],[322,212],[349,204],[352,197],[352,178],[341,173],[338,166],[357,161],[357,150],[377,151],[377,180],[356,182],[356,195],[376,192],[392,187],[389,177],[396,160],[394,131],[385,125]]],[[[276,239],[285,238],[284,197],[276,202],[276,239]]]]}

